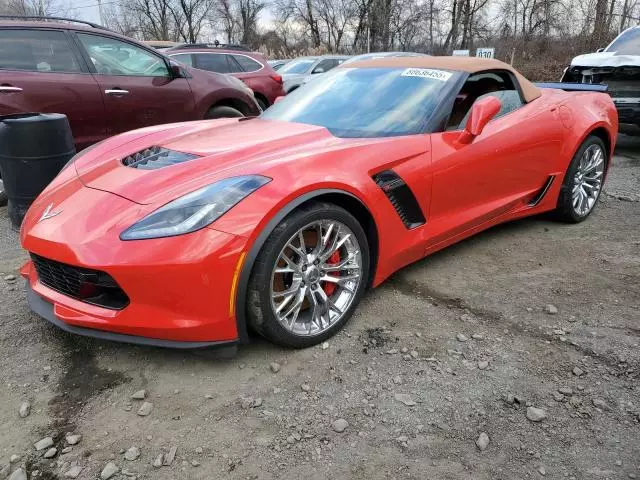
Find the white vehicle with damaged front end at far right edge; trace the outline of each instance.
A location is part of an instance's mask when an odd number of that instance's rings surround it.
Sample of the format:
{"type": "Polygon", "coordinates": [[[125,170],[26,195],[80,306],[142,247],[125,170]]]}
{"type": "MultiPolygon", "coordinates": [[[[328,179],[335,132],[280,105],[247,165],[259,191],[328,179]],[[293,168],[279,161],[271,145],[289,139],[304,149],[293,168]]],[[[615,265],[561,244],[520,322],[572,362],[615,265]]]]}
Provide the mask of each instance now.
{"type": "Polygon", "coordinates": [[[596,53],[575,57],[561,81],[606,84],[620,131],[640,135],[640,27],[628,28],[596,53]]]}

